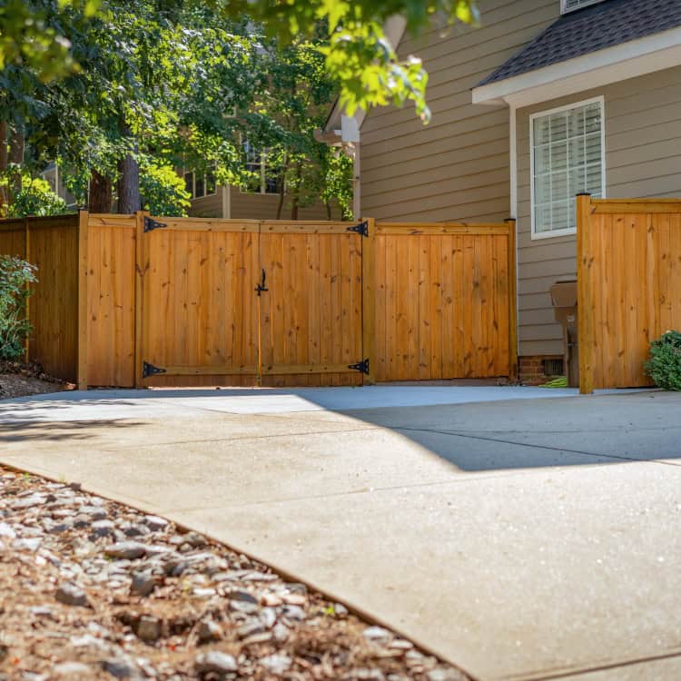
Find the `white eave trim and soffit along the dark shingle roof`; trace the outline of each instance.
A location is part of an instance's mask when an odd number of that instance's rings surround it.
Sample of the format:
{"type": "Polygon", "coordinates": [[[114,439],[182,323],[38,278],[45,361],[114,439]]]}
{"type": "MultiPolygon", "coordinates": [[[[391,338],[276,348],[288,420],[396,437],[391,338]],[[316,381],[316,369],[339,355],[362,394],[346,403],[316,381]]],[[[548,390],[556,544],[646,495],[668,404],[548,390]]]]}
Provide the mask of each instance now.
{"type": "Polygon", "coordinates": [[[520,108],[681,64],[681,27],[473,88],[473,104],[520,108]]]}

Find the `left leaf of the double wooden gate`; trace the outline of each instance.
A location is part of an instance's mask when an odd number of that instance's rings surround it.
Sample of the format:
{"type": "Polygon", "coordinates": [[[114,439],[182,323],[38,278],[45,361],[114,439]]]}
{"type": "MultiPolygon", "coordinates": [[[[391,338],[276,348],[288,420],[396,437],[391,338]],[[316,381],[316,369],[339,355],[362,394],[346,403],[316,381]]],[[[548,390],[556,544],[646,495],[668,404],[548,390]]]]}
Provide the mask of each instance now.
{"type": "Polygon", "coordinates": [[[158,218],[143,232],[143,362],[164,373],[143,385],[252,385],[257,370],[254,288],[258,222],[158,218]]]}

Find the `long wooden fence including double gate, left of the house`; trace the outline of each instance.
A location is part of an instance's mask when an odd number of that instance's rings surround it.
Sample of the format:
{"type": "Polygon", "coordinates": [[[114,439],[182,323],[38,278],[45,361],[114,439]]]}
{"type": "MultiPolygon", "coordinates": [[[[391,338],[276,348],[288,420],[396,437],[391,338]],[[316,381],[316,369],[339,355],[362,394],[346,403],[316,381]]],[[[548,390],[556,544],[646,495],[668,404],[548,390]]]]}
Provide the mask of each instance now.
{"type": "Polygon", "coordinates": [[[29,357],[80,387],[516,375],[512,221],[38,222],[0,222],[0,252],[40,259],[29,357]]]}

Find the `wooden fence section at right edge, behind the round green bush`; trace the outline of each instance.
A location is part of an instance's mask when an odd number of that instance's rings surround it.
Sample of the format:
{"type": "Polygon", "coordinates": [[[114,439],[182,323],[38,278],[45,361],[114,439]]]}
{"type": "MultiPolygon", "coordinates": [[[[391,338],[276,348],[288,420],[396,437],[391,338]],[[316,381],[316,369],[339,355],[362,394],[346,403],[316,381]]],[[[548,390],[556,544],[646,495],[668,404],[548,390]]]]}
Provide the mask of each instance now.
{"type": "Polygon", "coordinates": [[[650,342],[681,329],[681,202],[577,197],[579,388],[651,385],[650,342]]]}

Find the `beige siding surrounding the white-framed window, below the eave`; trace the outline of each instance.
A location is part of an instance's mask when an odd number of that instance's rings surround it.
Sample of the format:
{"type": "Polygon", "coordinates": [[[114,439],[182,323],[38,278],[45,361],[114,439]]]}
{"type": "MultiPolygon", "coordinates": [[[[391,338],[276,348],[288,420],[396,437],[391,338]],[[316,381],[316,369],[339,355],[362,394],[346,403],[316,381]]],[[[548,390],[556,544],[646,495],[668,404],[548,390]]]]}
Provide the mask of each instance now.
{"type": "Polygon", "coordinates": [[[558,354],[549,289],[574,278],[574,235],[530,237],[529,115],[603,95],[609,198],[681,196],[681,67],[518,110],[518,309],[521,355],[558,354]]]}

